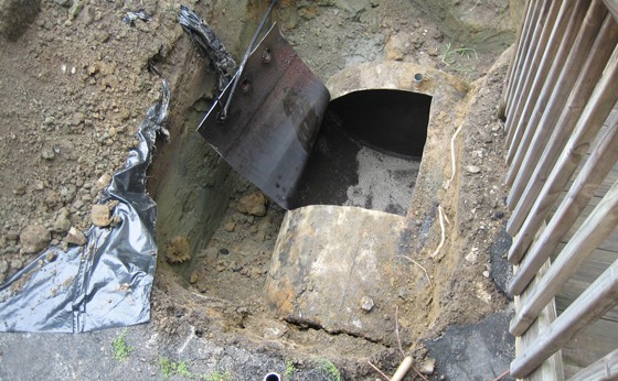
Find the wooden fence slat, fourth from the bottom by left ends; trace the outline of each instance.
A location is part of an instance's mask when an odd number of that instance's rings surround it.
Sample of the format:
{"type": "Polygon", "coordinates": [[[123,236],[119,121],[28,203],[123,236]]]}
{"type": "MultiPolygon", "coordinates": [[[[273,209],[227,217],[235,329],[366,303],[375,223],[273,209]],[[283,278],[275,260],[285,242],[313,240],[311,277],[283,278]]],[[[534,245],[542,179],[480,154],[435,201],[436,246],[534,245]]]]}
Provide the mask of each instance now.
{"type": "MultiPolygon", "coordinates": [[[[607,20],[612,22],[612,26],[616,30],[616,39],[618,39],[618,24],[614,23],[612,19],[607,20]]],[[[554,151],[558,151],[560,149],[562,153],[555,165],[553,165],[553,161],[548,157],[546,157],[544,163],[540,163],[534,177],[529,184],[531,187],[542,187],[541,190],[531,189],[529,193],[524,194],[522,203],[513,210],[513,215],[507,225],[507,231],[513,235],[513,231],[520,230],[518,227],[520,224],[523,226],[521,231],[519,231],[520,233],[515,237],[515,240],[513,240],[509,251],[509,260],[511,263],[518,263],[523,257],[536,230],[541,227],[541,224],[550,213],[555,200],[565,188],[571,176],[577,168],[577,165],[585,156],[587,148],[611,112],[618,99],[618,86],[615,86],[616,81],[618,81],[618,47],[616,47],[614,52],[615,54],[611,56],[608,65],[604,66],[605,72],[600,69],[600,72],[604,72],[603,77],[594,89],[594,94],[588,99],[582,112],[582,117],[577,120],[573,135],[569,133],[571,137],[558,137],[556,134],[552,137],[555,139],[547,146],[546,151],[548,152],[546,152],[546,154],[552,155],[552,149],[554,148],[554,151]],[[567,138],[569,139],[565,146],[563,141],[567,138]],[[545,170],[545,166],[550,164],[552,164],[553,167],[545,170]],[[548,173],[548,176],[545,175],[545,173],[548,173]],[[529,207],[529,204],[532,204],[532,206],[529,207]],[[524,218],[524,216],[528,218],[524,218]]],[[[578,91],[574,91],[572,96],[577,96],[577,94],[578,91]]],[[[572,111],[573,109],[567,113],[572,111]]]]}

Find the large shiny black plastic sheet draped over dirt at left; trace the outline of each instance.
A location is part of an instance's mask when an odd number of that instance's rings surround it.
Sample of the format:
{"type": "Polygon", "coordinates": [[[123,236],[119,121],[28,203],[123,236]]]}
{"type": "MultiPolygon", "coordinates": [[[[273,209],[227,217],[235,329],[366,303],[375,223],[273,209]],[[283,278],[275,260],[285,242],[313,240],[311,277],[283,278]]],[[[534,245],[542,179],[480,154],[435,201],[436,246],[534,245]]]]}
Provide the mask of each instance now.
{"type": "Polygon", "coordinates": [[[146,192],[146,170],[158,134],[167,133],[170,88],[151,106],[140,144],[113,176],[102,204],[117,200],[120,222],[92,227],[87,243],[66,252],[50,247],[0,286],[0,331],[83,333],[150,319],[157,264],[157,205],[146,192]]]}

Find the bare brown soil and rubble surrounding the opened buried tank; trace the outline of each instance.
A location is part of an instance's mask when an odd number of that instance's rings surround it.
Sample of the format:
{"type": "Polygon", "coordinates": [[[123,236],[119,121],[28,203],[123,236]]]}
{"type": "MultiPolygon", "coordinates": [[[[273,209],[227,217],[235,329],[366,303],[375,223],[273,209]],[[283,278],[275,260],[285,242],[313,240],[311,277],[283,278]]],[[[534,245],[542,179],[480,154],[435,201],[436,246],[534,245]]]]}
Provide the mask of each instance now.
{"type": "MultiPolygon", "coordinates": [[[[298,364],[330,358],[347,379],[374,378],[367,359],[392,372],[402,359],[397,341],[416,363],[430,363],[423,339],[508,305],[489,279],[489,249],[507,218],[494,108],[509,56],[490,68],[514,40],[509,2],[440,3],[451,10],[449,17],[433,17],[425,12],[436,10],[405,0],[281,1],[274,15],[323,81],[359,63],[403,61],[470,83],[467,106],[457,111],[464,123],[457,144],[462,175],[448,189],[434,189],[446,215],[456,216],[446,225],[443,248],[454,254],[425,258],[427,276],[443,283],[436,289],[441,292],[427,292],[427,304],[435,298],[439,308],[408,305],[399,316],[384,316],[388,339],[375,341],[289,324],[266,307],[263,287],[285,211],[216,160],[194,131],[212,101],[215,78],[178,25],[179,3],[168,0],[43,0],[39,11],[34,3],[0,0],[0,281],[47,244],[68,246],[72,227],[87,229],[92,206],[121,168],[145,111],[159,96],[160,73],[171,83],[172,104],[171,141],[160,143],[149,174],[159,204],[156,329],[173,339],[188,323],[200,335],[266,346],[298,364]],[[141,8],[151,20],[122,22],[127,11],[141,8]],[[23,21],[2,22],[14,12],[22,12],[23,21]],[[455,25],[452,18],[469,23],[455,25]],[[456,26],[469,34],[457,37],[456,26]],[[441,276],[443,260],[458,268],[456,277],[441,276]]],[[[267,4],[190,6],[239,59],[267,4]]],[[[415,200],[425,190],[417,189],[415,200]]],[[[440,241],[435,200],[427,197],[407,216],[431,248],[440,241]]]]}

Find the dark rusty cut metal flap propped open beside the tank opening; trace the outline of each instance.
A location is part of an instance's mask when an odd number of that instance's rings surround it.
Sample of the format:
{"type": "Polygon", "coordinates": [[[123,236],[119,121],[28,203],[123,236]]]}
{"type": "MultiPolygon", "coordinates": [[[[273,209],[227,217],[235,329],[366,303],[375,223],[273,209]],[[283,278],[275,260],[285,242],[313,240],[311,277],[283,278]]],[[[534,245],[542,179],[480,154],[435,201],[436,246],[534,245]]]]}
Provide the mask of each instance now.
{"type": "Polygon", "coordinates": [[[226,118],[220,112],[230,86],[199,132],[237,172],[289,208],[329,92],[275,28],[241,75],[226,118]]]}

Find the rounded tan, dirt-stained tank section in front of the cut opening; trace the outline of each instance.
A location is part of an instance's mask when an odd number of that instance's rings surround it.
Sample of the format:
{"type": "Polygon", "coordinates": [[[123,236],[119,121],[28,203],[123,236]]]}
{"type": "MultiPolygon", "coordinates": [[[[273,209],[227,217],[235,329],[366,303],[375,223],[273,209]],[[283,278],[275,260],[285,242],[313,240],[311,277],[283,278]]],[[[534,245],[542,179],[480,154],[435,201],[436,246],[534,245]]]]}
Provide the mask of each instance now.
{"type": "Polygon", "coordinates": [[[391,342],[384,316],[394,316],[404,294],[414,303],[429,286],[402,258],[404,220],[356,207],[288,211],[266,281],[268,304],[288,322],[391,342]],[[402,279],[415,286],[393,290],[402,279]]]}

